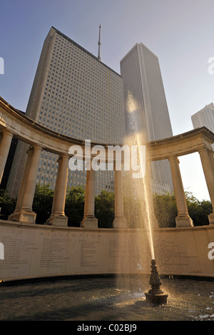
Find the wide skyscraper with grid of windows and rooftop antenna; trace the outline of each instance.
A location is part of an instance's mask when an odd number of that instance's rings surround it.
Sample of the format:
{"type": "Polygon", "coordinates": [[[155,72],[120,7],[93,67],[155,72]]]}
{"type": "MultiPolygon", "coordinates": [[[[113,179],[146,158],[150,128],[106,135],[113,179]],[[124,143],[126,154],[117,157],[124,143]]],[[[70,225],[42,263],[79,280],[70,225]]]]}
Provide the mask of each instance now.
{"type": "MultiPolygon", "coordinates": [[[[100,57],[52,27],[41,51],[26,115],[73,138],[122,143],[126,131],[123,80],[100,57]]],[[[19,190],[25,157],[26,145],[20,143],[7,187],[13,195],[19,190]]],[[[54,188],[56,160],[52,153],[41,154],[38,183],[54,188]]],[[[85,171],[69,171],[68,186],[85,182],[85,171]]],[[[97,193],[114,190],[113,171],[98,171],[96,182],[97,193]]]]}

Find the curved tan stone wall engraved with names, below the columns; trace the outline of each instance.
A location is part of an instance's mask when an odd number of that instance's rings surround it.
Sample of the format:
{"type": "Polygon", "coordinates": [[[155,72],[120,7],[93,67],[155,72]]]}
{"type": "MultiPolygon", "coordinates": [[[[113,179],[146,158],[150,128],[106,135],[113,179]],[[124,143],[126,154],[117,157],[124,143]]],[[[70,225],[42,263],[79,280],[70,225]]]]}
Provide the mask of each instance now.
{"type": "MultiPolygon", "coordinates": [[[[0,242],[4,244],[0,281],[5,282],[151,271],[151,251],[143,230],[90,230],[1,220],[0,242]]],[[[155,230],[159,274],[214,277],[212,242],[213,226],[155,230]]]]}

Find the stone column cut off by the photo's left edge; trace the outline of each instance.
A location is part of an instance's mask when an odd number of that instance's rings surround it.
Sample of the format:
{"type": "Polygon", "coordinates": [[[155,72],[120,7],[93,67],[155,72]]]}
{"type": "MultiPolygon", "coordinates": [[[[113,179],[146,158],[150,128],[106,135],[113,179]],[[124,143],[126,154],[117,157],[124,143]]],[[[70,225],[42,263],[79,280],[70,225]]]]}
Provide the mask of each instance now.
{"type": "Polygon", "coordinates": [[[9,154],[11,140],[14,136],[11,130],[8,130],[8,129],[3,130],[2,133],[3,133],[3,137],[1,139],[1,144],[0,144],[0,183],[2,180],[3,173],[4,173],[6,160],[9,154]]]}

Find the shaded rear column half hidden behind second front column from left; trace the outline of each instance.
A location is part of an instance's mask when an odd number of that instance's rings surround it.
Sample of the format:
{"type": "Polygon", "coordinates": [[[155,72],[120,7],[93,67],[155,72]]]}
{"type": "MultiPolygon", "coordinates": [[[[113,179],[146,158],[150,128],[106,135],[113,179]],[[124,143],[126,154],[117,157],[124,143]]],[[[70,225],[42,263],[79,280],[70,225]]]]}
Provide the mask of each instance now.
{"type": "Polygon", "coordinates": [[[31,166],[31,160],[33,157],[33,153],[34,153],[34,148],[33,147],[29,147],[29,150],[27,151],[27,160],[26,160],[26,165],[24,168],[24,173],[22,176],[22,180],[21,180],[21,186],[19,189],[19,195],[18,195],[18,199],[16,202],[16,209],[14,210],[14,212],[9,215],[8,220],[10,221],[19,221],[20,217],[19,217],[19,211],[21,209],[21,205],[22,205],[22,201],[23,201],[23,197],[24,197],[24,193],[25,193],[25,189],[26,189],[26,181],[28,180],[28,175],[29,175],[29,168],[31,166]]]}

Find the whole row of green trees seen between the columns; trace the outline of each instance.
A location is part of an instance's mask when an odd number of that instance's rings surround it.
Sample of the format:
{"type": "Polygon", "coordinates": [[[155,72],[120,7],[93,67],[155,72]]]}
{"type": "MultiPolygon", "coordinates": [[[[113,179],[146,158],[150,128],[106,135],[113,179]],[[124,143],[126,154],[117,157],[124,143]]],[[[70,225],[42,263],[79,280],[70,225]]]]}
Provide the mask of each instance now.
{"type": "MultiPolygon", "coordinates": [[[[32,209],[36,212],[36,223],[44,225],[51,215],[54,190],[50,185],[36,185],[32,209]]],[[[212,204],[208,200],[197,200],[191,192],[185,192],[188,212],[194,226],[209,225],[208,215],[213,212],[212,204]]],[[[0,219],[7,220],[16,208],[17,197],[11,197],[6,190],[0,190],[0,219]]],[[[85,189],[82,186],[70,187],[67,190],[65,214],[69,227],[80,227],[84,215],[85,189]]],[[[175,195],[153,195],[154,213],[159,227],[176,227],[175,217],[178,215],[175,195]]],[[[136,196],[124,197],[124,215],[128,220],[128,227],[143,227],[143,212],[145,204],[136,196]]],[[[112,228],[115,217],[114,194],[105,190],[95,197],[95,216],[99,228],[112,228]]]]}

